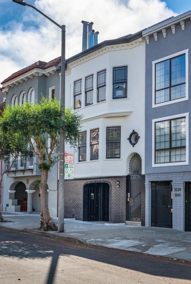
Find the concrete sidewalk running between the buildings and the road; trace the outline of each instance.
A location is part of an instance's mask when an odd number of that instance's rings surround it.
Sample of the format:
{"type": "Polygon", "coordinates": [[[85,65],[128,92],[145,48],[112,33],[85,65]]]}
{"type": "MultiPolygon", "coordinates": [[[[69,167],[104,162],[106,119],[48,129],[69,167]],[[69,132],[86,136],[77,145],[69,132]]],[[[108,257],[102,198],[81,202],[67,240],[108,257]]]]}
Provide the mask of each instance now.
{"type": "MultiPolygon", "coordinates": [[[[24,212],[2,212],[2,214],[5,220],[12,222],[0,223],[0,228],[24,230],[77,243],[191,262],[191,232],[106,222],[84,222],[75,219],[64,219],[64,233],[41,232],[37,230],[40,226],[39,214],[24,212]]],[[[58,218],[53,218],[53,221],[58,224],[58,218]]]]}

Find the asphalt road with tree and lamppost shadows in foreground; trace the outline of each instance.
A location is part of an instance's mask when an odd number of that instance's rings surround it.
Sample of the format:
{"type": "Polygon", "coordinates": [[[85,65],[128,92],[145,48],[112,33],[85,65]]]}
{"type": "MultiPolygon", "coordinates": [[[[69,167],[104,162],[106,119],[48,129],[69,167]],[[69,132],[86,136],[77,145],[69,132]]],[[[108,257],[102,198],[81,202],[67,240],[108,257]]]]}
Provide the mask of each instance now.
{"type": "Polygon", "coordinates": [[[0,284],[184,284],[191,263],[0,227],[0,284]]]}

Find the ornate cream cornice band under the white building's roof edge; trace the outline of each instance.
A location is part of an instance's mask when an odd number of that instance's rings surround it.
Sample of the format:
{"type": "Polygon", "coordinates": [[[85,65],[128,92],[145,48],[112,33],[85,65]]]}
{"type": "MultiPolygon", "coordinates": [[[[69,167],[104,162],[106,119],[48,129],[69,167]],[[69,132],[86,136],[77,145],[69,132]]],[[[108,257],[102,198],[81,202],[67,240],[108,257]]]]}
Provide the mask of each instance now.
{"type": "Polygon", "coordinates": [[[138,38],[136,39],[135,41],[131,41],[129,43],[123,43],[123,44],[115,44],[115,45],[108,45],[108,46],[104,46],[100,49],[97,49],[96,51],[94,52],[91,52],[87,55],[84,55],[83,57],[81,58],[78,58],[77,60],[74,60],[74,61],[71,61],[67,64],[67,70],[66,70],[66,75],[70,75],[70,72],[71,72],[71,69],[73,67],[76,67],[82,63],[85,63],[89,60],[92,60],[100,55],[103,55],[107,52],[110,52],[110,51],[118,51],[118,50],[126,50],[126,49],[131,49],[131,48],[134,48],[136,46],[139,46],[139,45],[143,45],[145,42],[144,38],[138,38]]]}

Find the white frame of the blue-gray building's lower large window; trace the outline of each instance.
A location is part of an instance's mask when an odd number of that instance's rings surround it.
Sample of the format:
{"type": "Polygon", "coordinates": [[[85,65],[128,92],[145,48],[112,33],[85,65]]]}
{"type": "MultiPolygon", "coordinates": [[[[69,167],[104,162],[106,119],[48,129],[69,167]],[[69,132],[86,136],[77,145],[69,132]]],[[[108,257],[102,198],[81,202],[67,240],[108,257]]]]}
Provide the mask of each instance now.
{"type": "Polygon", "coordinates": [[[167,167],[167,166],[181,166],[188,165],[189,157],[189,112],[184,114],[176,114],[167,117],[160,117],[152,120],[152,167],[167,167]],[[170,162],[170,163],[161,163],[155,164],[155,122],[160,122],[163,120],[172,120],[180,117],[186,117],[186,161],[184,162],[170,162]]]}

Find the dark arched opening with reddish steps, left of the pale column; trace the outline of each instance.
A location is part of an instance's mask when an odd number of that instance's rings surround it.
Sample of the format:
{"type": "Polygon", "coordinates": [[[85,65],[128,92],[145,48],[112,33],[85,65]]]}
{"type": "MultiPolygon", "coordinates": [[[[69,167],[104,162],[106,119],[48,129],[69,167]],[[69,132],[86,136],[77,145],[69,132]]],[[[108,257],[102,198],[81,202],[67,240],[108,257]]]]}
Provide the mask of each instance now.
{"type": "Polygon", "coordinates": [[[17,199],[17,205],[20,205],[20,211],[27,212],[26,185],[21,181],[15,186],[15,199],[17,199]]]}

